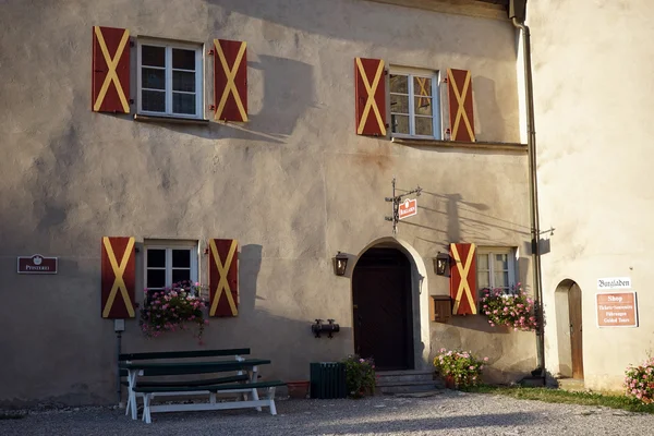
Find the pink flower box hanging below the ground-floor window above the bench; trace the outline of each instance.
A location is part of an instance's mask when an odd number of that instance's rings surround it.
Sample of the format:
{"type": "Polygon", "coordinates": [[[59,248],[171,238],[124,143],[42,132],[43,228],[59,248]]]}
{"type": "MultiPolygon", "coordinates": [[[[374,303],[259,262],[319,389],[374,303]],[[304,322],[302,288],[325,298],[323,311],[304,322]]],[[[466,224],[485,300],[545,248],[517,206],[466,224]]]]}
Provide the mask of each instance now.
{"type": "Polygon", "coordinates": [[[182,281],[162,290],[145,289],[141,307],[140,325],[143,332],[156,338],[166,331],[183,330],[187,324],[196,326],[196,337],[202,342],[205,325],[206,302],[202,298],[203,287],[196,282],[182,281]]]}

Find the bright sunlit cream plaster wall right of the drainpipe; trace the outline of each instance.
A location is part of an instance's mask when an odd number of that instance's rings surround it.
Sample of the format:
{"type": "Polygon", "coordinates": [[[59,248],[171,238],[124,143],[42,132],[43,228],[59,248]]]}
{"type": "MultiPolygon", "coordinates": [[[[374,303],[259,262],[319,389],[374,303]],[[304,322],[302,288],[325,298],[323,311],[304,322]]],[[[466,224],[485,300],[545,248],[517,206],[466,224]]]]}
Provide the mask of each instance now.
{"type": "MultiPolygon", "coordinates": [[[[579,283],[583,303],[585,385],[621,388],[625,370],[652,350],[654,310],[649,284],[654,210],[651,174],[654,68],[650,19],[654,3],[529,2],[533,40],[542,229],[552,252],[543,257],[546,363],[559,372],[555,290],[579,283]],[[638,328],[597,328],[596,280],[631,277],[638,328]]],[[[564,359],[565,360],[565,359],[564,359]]]]}

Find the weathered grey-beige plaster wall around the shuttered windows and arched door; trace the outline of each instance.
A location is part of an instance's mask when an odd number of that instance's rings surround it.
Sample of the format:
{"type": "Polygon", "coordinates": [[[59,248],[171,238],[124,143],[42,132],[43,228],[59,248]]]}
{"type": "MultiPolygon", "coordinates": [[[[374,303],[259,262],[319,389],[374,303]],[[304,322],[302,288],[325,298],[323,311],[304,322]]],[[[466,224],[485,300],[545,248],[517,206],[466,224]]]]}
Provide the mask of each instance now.
{"type": "MultiPolygon", "coordinates": [[[[522,247],[528,239],[523,153],[354,134],[353,59],[379,57],[470,69],[477,138],[517,142],[507,22],[353,0],[1,8],[0,292],[11,300],[0,305],[1,404],[114,401],[113,324],[99,313],[102,235],[194,240],[201,253],[208,238],[238,239],[240,315],[213,320],[206,347],[250,347],[272,359],[265,376],[287,380],[307,377],[308,362],[353,351],[351,270],[336,277],[331,257],[356,256],[391,235],[384,197],[393,175],[400,190],[424,189],[419,216],[398,234],[427,266],[422,289],[414,283],[421,295],[448,292],[431,258],[449,242],[522,247]],[[206,47],[215,37],[246,40],[251,122],[149,124],[92,112],[93,25],[206,47]],[[16,256],[34,253],[59,256],[60,274],[17,276],[16,256]],[[336,318],[341,331],[314,339],[314,318],[336,318]]],[[[211,102],[208,80],[205,94],[211,102]]],[[[141,289],[142,254],[136,261],[141,289]]],[[[201,256],[203,279],[206,262],[201,256]]],[[[423,366],[439,347],[464,346],[489,355],[494,371],[533,367],[524,335],[492,335],[492,352],[480,319],[429,325],[422,303],[414,311],[423,366]]],[[[146,340],[136,320],[126,322],[125,351],[195,348],[187,334],[146,340]]]]}

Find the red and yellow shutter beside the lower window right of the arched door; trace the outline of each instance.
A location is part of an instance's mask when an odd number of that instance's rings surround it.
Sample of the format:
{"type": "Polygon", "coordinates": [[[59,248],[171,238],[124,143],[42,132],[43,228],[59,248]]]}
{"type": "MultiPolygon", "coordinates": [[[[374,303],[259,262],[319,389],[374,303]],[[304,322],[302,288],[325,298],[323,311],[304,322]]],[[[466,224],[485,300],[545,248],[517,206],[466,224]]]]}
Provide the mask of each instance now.
{"type": "Polygon", "coordinates": [[[450,258],[452,315],[475,315],[477,313],[475,244],[450,244],[450,258]]]}

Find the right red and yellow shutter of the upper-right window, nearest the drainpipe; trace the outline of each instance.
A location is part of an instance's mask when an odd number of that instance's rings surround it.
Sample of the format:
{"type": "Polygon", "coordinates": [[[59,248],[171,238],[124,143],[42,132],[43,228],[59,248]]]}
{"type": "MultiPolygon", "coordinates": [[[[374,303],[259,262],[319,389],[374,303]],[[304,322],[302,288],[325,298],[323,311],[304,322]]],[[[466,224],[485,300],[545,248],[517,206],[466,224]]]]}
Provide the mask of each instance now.
{"type": "Polygon", "coordinates": [[[450,141],[474,142],[472,77],[468,70],[447,70],[450,141]]]}

